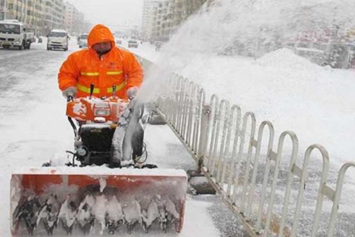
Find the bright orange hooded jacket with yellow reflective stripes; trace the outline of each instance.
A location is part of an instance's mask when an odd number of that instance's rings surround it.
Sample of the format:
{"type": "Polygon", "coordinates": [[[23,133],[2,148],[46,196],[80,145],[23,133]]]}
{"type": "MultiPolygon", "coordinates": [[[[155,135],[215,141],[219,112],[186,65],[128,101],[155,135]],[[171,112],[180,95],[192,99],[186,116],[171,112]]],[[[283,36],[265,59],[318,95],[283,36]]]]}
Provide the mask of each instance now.
{"type": "Polygon", "coordinates": [[[89,49],[74,52],[63,62],[58,74],[61,90],[75,86],[78,89],[76,97],[85,97],[90,94],[90,84],[94,84],[95,96],[109,97],[112,96],[112,86],[116,85],[116,95],[127,98],[128,88],[140,86],[143,70],[139,62],[132,53],[115,47],[109,28],[96,25],[89,33],[88,45],[89,49]],[[91,47],[108,41],[111,42],[112,49],[100,58],[91,47]]]}

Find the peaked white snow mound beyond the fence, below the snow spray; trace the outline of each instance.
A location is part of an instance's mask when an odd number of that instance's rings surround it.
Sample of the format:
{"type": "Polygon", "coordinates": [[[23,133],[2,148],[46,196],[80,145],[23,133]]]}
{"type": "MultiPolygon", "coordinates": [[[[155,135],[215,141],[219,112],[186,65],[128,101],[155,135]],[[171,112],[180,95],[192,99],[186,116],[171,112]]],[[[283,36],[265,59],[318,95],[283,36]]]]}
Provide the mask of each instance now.
{"type": "Polygon", "coordinates": [[[308,59],[296,55],[287,48],[278,49],[270,52],[256,60],[262,66],[280,67],[283,69],[294,70],[317,70],[321,67],[310,62],[308,59]]]}

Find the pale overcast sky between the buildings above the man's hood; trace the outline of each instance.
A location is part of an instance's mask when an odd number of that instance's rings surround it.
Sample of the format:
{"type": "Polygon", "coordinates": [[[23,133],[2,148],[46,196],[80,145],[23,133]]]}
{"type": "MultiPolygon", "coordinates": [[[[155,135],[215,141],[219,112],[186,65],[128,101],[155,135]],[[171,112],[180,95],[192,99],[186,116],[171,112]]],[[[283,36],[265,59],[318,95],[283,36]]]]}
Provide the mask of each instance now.
{"type": "Polygon", "coordinates": [[[140,26],[143,0],[68,0],[85,14],[85,21],[119,26],[140,26]]]}

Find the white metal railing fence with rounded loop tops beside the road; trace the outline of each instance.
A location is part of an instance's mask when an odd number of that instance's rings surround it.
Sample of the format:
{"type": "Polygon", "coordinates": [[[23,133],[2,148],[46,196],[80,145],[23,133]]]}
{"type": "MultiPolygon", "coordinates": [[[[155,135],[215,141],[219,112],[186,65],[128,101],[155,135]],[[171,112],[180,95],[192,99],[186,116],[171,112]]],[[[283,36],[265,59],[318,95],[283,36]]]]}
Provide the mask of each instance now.
{"type": "MultiPolygon", "coordinates": [[[[145,65],[151,64],[140,59],[145,65]]],[[[333,189],[328,177],[329,154],[322,145],[311,145],[304,154],[299,154],[297,135],[284,131],[274,148],[270,121],[257,126],[253,112],[242,114],[239,106],[220,100],[216,94],[206,101],[203,88],[179,75],[171,75],[165,91],[157,101],[158,109],[251,236],[355,234],[353,222],[335,231],[345,173],[355,163],[340,168],[333,189]],[[264,141],[266,129],[269,136],[264,141]],[[287,138],[291,149],[283,151],[287,138]],[[265,154],[261,153],[262,148],[265,154]],[[316,150],[323,159],[319,172],[310,169],[316,150]],[[281,161],[287,164],[281,165],[281,161]],[[317,176],[319,182],[307,181],[308,172],[317,176]],[[306,181],[307,192],[314,193],[314,200],[305,197],[306,181]],[[324,197],[332,206],[328,213],[322,212],[324,197]]]]}

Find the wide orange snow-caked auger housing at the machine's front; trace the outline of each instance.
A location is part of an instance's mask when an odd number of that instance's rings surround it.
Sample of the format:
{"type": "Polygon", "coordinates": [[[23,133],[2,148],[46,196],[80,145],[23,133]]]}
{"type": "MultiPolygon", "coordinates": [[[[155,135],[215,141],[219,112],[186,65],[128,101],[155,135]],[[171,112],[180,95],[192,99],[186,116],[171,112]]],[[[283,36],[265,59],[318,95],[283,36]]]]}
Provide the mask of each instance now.
{"type": "Polygon", "coordinates": [[[183,170],[22,170],[11,178],[12,235],[180,232],[186,180],[183,170]]]}

